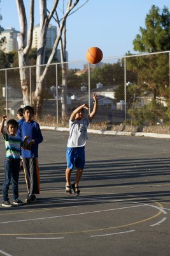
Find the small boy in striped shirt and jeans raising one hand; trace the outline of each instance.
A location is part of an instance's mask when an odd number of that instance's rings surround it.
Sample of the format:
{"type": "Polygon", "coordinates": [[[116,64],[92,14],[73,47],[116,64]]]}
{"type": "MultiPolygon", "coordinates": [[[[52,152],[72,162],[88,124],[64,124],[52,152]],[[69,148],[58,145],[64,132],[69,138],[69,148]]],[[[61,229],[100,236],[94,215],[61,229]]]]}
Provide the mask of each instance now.
{"type": "Polygon", "coordinates": [[[4,163],[4,184],[3,184],[3,202],[2,206],[11,207],[13,205],[22,205],[24,204],[22,200],[18,197],[18,179],[20,172],[20,150],[22,148],[31,148],[32,141],[27,144],[27,138],[29,136],[25,136],[24,141],[17,136],[18,130],[18,122],[15,119],[8,120],[6,124],[6,129],[8,131],[4,131],[4,122],[6,121],[7,116],[3,115],[0,131],[5,140],[6,147],[6,156],[4,163]],[[13,192],[13,204],[10,203],[8,197],[8,190],[10,187],[10,183],[12,182],[12,192],[13,192]]]}

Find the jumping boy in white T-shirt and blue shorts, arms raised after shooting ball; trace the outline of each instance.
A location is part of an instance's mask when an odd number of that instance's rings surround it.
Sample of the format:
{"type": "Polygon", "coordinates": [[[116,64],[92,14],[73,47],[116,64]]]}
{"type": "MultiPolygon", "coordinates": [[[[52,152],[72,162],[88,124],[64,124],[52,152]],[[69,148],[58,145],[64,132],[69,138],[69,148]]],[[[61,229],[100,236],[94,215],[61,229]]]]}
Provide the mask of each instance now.
{"type": "Polygon", "coordinates": [[[76,196],[80,195],[78,184],[85,166],[85,143],[87,137],[87,127],[92,121],[92,118],[97,113],[98,98],[94,93],[94,107],[89,116],[85,116],[84,109],[89,109],[87,104],[83,104],[72,109],[69,119],[69,139],[67,142],[67,168],[66,168],[66,194],[71,195],[73,188],[76,196]],[[73,184],[70,182],[71,172],[76,167],[76,179],[73,184]]]}

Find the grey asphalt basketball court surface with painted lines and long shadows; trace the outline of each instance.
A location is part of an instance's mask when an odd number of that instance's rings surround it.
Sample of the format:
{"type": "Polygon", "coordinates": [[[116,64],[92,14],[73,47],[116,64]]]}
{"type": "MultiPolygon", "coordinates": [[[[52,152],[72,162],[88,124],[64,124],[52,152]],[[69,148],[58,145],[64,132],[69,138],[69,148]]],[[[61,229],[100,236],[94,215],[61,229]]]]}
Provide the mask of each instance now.
{"type": "MultiPolygon", "coordinates": [[[[41,194],[34,204],[0,205],[0,255],[169,256],[169,139],[89,134],[80,196],[67,196],[68,132],[43,137],[41,194]]],[[[0,152],[2,199],[3,140],[0,152]]],[[[19,189],[24,200],[23,172],[19,189]]]]}

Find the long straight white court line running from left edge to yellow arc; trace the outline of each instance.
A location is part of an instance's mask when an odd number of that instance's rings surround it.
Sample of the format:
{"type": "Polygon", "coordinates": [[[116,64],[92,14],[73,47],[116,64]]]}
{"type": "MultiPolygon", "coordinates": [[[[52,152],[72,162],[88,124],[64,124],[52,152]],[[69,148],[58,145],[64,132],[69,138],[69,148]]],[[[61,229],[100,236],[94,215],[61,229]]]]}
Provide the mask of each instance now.
{"type": "Polygon", "coordinates": [[[59,215],[59,216],[52,216],[52,217],[44,217],[44,218],[4,221],[4,222],[0,222],[0,224],[4,224],[4,223],[15,223],[15,222],[24,222],[24,221],[33,221],[33,220],[49,220],[49,219],[54,219],[54,218],[62,218],[62,217],[69,217],[69,216],[77,216],[77,215],[83,215],[83,214],[92,214],[92,213],[97,213],[97,212],[116,211],[116,210],[129,209],[129,208],[141,207],[141,206],[145,206],[145,204],[143,204],[143,205],[135,205],[135,206],[128,206],[128,207],[120,207],[120,208],[115,208],[115,209],[107,209],[107,210],[101,210],[101,211],[80,212],[80,213],[66,214],[66,215],[59,215]]]}

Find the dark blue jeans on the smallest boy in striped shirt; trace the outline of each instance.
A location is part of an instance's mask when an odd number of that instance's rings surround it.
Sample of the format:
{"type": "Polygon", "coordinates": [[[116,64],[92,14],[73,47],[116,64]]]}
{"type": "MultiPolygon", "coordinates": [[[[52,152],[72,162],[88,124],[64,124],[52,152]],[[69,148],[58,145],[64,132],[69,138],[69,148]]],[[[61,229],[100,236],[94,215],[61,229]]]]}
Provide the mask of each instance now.
{"type": "Polygon", "coordinates": [[[4,162],[3,200],[9,200],[8,190],[12,182],[13,200],[18,198],[20,159],[6,158],[4,162]]]}

